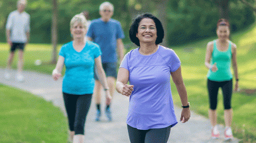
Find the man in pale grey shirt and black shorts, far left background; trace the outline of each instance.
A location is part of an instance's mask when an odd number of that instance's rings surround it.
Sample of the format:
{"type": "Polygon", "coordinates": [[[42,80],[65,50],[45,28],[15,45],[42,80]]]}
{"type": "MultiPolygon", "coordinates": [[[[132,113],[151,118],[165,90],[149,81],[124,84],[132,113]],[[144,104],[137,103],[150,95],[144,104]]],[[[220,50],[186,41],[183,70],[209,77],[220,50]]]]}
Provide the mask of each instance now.
{"type": "Polygon", "coordinates": [[[9,14],[6,24],[6,38],[7,42],[11,46],[11,52],[7,61],[5,78],[9,79],[11,77],[9,72],[11,69],[11,63],[13,63],[15,50],[19,49],[18,72],[16,77],[19,82],[24,81],[24,77],[22,75],[23,51],[25,45],[29,42],[30,34],[30,16],[24,11],[26,6],[26,0],[18,0],[17,10],[9,14]]]}

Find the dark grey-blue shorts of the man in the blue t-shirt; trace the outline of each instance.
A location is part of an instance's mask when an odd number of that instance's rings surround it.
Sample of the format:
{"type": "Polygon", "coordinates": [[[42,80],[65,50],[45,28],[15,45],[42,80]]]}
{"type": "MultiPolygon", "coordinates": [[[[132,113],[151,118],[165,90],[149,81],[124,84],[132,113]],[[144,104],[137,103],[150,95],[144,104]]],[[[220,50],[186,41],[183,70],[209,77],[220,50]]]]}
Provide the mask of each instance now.
{"type": "MultiPolygon", "coordinates": [[[[107,77],[111,76],[117,78],[117,63],[102,63],[102,67],[105,71],[107,77]]],[[[96,72],[94,71],[95,80],[99,80],[97,78],[96,72]]]]}

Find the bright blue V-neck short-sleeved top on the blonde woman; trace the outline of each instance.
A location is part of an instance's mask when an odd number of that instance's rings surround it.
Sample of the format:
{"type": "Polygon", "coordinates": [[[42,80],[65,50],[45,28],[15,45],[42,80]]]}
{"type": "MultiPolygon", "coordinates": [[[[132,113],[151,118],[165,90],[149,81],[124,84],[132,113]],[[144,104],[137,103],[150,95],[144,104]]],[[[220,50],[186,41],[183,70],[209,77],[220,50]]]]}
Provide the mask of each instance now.
{"type": "Polygon", "coordinates": [[[66,94],[92,94],[94,92],[94,59],[101,55],[99,45],[89,40],[84,49],[78,52],[73,42],[62,45],[60,56],[64,57],[66,67],[62,92],[66,94]]]}

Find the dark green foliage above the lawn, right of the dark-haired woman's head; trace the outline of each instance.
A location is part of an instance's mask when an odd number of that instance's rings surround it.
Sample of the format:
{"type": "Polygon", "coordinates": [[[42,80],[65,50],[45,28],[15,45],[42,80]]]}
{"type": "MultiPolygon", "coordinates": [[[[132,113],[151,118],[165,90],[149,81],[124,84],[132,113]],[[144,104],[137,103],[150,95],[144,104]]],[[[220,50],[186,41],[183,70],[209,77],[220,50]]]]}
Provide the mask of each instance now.
{"type": "MultiPolygon", "coordinates": [[[[219,9],[210,1],[174,0],[168,11],[169,45],[188,43],[216,35],[219,9]]],[[[245,5],[229,5],[231,31],[237,32],[255,21],[253,11],[245,5]]]]}

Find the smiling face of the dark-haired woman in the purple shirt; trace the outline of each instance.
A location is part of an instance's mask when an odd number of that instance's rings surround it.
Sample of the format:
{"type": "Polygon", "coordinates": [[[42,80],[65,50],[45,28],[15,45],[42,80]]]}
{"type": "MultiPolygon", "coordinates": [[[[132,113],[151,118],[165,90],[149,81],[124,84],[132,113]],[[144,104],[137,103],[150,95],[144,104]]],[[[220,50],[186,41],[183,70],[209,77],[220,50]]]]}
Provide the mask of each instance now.
{"type": "Polygon", "coordinates": [[[140,43],[155,43],[157,40],[157,27],[153,19],[143,18],[139,22],[136,37],[140,43]]]}

